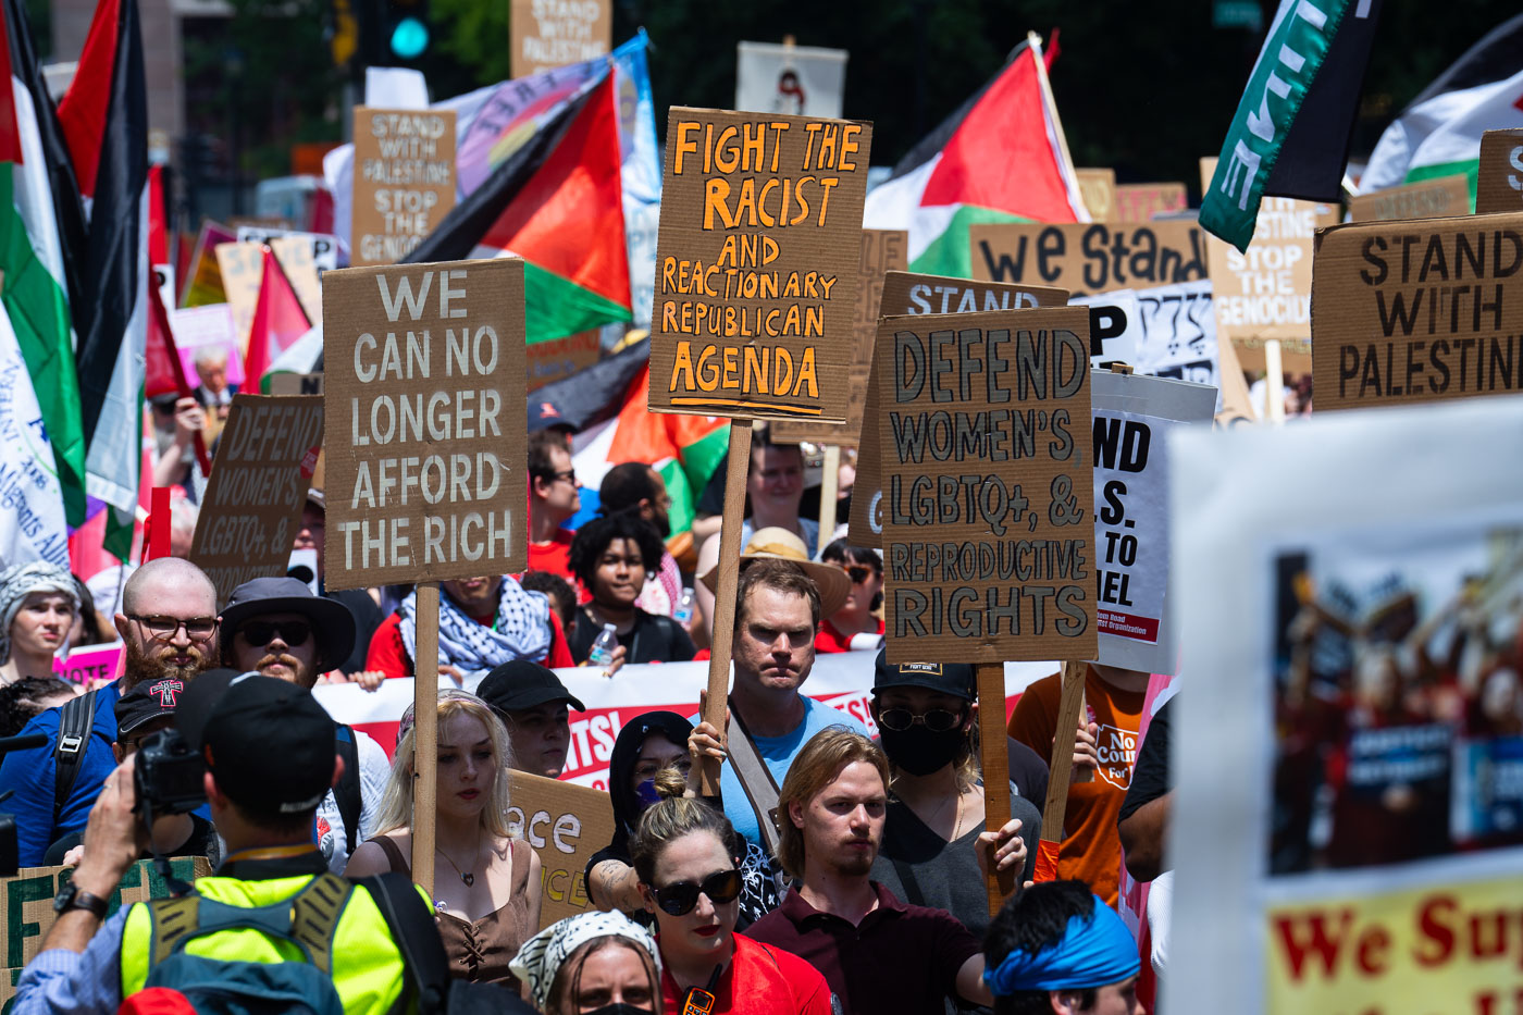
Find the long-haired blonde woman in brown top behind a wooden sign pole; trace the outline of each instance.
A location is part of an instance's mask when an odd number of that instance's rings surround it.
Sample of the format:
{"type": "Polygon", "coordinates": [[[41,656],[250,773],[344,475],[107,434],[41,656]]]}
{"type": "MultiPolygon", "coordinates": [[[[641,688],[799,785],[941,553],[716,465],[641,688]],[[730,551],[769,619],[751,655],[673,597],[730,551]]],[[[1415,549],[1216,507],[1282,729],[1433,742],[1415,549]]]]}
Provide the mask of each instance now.
{"type": "MultiPolygon", "coordinates": [[[[349,860],[350,878],[411,872],[413,710],[402,716],[379,834],[349,860]]],[[[539,930],[539,858],[507,831],[507,730],[463,690],[439,695],[439,796],[434,823],[434,908],[458,980],[519,991],[507,963],[539,930]]]]}

